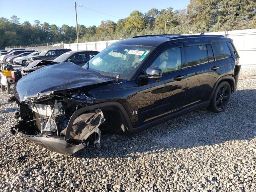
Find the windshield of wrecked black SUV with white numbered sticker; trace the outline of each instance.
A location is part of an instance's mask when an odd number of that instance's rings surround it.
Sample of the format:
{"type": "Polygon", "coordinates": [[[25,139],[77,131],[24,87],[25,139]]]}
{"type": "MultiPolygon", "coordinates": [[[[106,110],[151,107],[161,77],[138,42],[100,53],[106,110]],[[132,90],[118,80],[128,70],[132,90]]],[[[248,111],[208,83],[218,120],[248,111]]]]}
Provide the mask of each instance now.
{"type": "Polygon", "coordinates": [[[83,68],[112,77],[120,74],[120,79],[127,80],[152,49],[152,47],[112,44],[94,56],[83,68]]]}

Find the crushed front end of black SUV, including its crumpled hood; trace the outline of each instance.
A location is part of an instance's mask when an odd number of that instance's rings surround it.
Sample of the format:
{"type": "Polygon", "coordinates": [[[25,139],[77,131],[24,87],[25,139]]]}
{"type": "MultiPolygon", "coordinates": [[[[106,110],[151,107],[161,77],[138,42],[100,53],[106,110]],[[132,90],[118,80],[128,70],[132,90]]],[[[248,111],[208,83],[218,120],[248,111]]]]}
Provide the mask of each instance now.
{"type": "Polygon", "coordinates": [[[86,110],[96,102],[92,87],[111,79],[71,62],[45,66],[22,77],[13,88],[19,105],[18,123],[11,128],[25,138],[58,153],[73,154],[88,144],[100,144],[100,109],[86,110]]]}

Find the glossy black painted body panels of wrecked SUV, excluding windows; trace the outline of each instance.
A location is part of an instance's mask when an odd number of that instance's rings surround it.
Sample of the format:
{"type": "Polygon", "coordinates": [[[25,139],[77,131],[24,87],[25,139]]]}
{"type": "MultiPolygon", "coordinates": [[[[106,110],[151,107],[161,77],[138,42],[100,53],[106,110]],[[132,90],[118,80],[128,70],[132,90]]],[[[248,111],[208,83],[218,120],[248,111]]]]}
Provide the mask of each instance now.
{"type": "MultiPolygon", "coordinates": [[[[235,91],[240,70],[238,58],[236,58],[239,56],[235,48],[233,53],[230,47],[232,53],[230,58],[191,67],[186,65],[184,47],[191,45],[211,46],[212,42],[229,42],[232,44],[232,40],[229,38],[212,35],[142,36],[122,40],[116,44],[154,48],[150,55],[142,61],[132,78],[120,80],[117,83],[114,78],[104,77],[90,71],[90,68],[86,70],[72,63],[55,64],[23,77],[14,86],[14,94],[19,102],[26,102],[25,97],[36,98],[38,92],[42,95],[51,91],[56,94],[82,88],[86,90],[88,96],[95,98],[95,100],[93,103],[84,103],[84,107],[70,118],[68,126],[72,126],[72,121],[79,113],[110,105],[118,108],[120,115],[126,121],[128,131],[124,134],[135,133],[191,110],[207,107],[216,86],[222,80],[230,82],[232,92],[235,91]],[[160,80],[140,79],[139,76],[166,47],[179,47],[181,49],[182,68],[162,74],[160,80]],[[184,78],[176,80],[177,76],[184,76],[184,78]]],[[[69,140],[68,131],[64,140],[69,140]]],[[[42,144],[42,146],[46,145],[42,144]]]]}

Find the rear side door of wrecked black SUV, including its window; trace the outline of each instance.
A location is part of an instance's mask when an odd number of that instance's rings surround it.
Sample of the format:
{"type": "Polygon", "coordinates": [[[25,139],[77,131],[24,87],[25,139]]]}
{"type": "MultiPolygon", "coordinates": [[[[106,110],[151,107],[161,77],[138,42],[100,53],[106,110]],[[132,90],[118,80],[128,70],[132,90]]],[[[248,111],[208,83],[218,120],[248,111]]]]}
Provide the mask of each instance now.
{"type": "Polygon", "coordinates": [[[186,106],[210,100],[213,88],[222,71],[214,60],[210,42],[187,43],[184,45],[188,72],[186,106]]]}

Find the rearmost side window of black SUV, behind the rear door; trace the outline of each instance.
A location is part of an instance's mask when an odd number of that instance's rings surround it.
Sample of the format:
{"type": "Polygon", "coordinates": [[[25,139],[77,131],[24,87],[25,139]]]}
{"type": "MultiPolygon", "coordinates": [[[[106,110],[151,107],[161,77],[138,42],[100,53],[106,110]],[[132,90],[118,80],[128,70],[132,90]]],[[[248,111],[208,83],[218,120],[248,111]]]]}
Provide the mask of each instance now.
{"type": "Polygon", "coordinates": [[[212,49],[215,60],[221,60],[231,57],[231,53],[226,42],[212,42],[212,49]]]}

